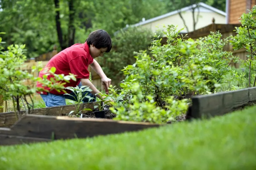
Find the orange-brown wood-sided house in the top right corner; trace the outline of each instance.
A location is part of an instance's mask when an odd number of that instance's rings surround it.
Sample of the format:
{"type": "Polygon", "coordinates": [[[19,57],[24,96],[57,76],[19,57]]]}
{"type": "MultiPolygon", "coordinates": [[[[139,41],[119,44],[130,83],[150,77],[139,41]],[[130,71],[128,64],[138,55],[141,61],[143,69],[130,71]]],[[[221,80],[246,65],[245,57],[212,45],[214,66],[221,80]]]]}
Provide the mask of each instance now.
{"type": "Polygon", "coordinates": [[[256,0],[226,0],[227,24],[240,24],[239,18],[256,5],[256,0]]]}

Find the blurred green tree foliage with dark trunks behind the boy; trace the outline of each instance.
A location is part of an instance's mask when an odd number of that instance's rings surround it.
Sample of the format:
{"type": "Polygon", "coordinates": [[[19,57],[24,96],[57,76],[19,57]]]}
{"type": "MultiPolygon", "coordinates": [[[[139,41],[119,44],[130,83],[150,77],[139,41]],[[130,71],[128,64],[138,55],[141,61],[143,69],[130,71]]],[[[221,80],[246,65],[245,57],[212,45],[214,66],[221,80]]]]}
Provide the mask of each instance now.
{"type": "Polygon", "coordinates": [[[95,29],[113,35],[126,24],[167,12],[162,0],[12,0],[0,1],[0,5],[1,31],[7,33],[4,48],[26,44],[29,58],[52,51],[54,44],[60,51],[84,43],[95,29]]]}

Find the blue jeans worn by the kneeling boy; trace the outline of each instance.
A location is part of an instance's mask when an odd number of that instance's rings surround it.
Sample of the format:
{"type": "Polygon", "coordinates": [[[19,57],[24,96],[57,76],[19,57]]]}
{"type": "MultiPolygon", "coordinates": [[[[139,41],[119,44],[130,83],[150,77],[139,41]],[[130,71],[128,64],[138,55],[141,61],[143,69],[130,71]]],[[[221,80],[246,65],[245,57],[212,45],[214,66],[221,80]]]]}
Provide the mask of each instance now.
{"type": "MultiPolygon", "coordinates": [[[[78,87],[80,88],[81,86],[82,86],[82,83],[80,82],[78,87]]],[[[70,94],[76,98],[76,95],[74,92],[71,92],[70,94]]],[[[40,95],[43,98],[46,107],[66,105],[65,99],[69,99],[69,100],[73,100],[73,101],[77,100],[77,98],[75,100],[72,96],[64,95],[64,94],[56,95],[56,94],[47,93],[47,95],[45,95],[45,94],[40,94],[40,95]]],[[[90,102],[96,101],[96,96],[93,95],[91,92],[84,92],[83,96],[85,96],[85,95],[88,95],[88,96],[94,98],[93,100],[90,100],[90,102]]],[[[83,103],[88,103],[88,102],[89,102],[89,99],[85,97],[83,100],[83,103]]]]}

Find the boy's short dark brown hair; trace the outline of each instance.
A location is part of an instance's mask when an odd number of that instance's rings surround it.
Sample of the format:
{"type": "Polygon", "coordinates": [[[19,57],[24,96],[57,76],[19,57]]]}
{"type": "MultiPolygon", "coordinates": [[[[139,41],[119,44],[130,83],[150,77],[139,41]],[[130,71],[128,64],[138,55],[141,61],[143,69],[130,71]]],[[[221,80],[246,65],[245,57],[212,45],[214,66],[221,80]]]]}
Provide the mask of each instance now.
{"type": "Polygon", "coordinates": [[[95,30],[88,35],[88,38],[85,40],[90,47],[94,45],[96,48],[108,48],[106,53],[108,53],[112,48],[112,40],[110,35],[105,30],[95,30]]]}

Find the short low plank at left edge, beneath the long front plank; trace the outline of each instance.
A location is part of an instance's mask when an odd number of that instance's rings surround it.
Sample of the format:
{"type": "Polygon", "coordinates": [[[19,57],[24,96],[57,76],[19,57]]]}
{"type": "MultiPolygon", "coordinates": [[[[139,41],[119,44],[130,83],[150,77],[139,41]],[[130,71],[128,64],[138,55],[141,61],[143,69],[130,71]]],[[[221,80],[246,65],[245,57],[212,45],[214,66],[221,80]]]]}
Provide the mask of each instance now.
{"type": "Polygon", "coordinates": [[[3,135],[0,134],[0,145],[16,145],[16,144],[28,144],[36,142],[50,142],[51,139],[36,138],[36,137],[22,137],[15,135],[3,135]]]}

